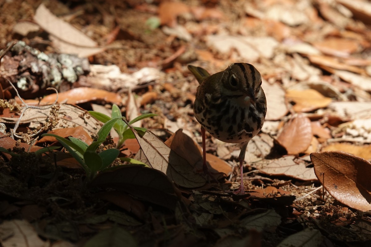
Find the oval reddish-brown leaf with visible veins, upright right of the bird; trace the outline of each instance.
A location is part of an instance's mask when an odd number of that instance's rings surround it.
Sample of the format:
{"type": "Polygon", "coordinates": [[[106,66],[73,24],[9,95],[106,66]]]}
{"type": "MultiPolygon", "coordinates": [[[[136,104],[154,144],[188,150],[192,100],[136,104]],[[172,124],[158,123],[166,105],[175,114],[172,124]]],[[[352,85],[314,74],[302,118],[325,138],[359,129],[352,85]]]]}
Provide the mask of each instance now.
{"type": "Polygon", "coordinates": [[[303,114],[298,114],[283,126],[277,141],[286,148],[288,154],[302,153],[312,141],[311,120],[303,114]]]}

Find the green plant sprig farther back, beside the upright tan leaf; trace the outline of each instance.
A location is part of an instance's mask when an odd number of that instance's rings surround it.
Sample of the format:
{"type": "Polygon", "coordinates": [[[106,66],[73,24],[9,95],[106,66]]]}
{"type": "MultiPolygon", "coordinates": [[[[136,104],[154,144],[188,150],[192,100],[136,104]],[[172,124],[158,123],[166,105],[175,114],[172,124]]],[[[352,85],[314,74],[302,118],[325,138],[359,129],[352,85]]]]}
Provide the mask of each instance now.
{"type": "MultiPolygon", "coordinates": [[[[106,114],[97,112],[97,111],[89,111],[89,113],[93,117],[95,117],[96,119],[98,119],[99,121],[103,123],[106,123],[107,121],[111,119],[115,119],[117,117],[122,117],[121,111],[116,104],[112,106],[111,117],[107,116],[106,114]]],[[[132,124],[139,120],[145,119],[147,117],[153,117],[153,116],[157,116],[157,114],[153,114],[153,113],[142,114],[136,117],[135,119],[129,121],[129,124],[132,124]]],[[[135,138],[133,131],[129,129],[128,125],[124,121],[115,122],[113,127],[119,136],[119,140],[116,146],[117,148],[120,148],[122,144],[124,144],[125,140],[135,138]]],[[[139,133],[144,133],[147,130],[146,128],[141,128],[141,127],[134,127],[134,129],[137,130],[139,133]]]]}

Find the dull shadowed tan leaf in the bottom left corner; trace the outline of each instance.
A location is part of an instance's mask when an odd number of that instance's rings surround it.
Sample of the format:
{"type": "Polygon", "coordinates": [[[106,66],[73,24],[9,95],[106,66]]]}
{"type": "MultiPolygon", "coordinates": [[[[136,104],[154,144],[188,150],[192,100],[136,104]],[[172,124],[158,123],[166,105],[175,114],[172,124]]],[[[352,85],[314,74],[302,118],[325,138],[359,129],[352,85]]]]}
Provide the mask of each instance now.
{"type": "Polygon", "coordinates": [[[37,234],[33,226],[26,220],[3,221],[0,225],[2,231],[8,230],[12,234],[1,240],[1,246],[27,246],[27,247],[47,247],[49,241],[43,241],[37,234]]]}

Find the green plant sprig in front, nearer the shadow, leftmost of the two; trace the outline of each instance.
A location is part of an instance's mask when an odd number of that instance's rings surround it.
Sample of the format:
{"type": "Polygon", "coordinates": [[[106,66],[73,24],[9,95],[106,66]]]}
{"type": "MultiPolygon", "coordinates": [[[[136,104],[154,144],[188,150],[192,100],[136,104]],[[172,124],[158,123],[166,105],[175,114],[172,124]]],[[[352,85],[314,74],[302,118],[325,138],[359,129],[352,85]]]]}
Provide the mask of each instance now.
{"type": "Polygon", "coordinates": [[[109,131],[114,124],[122,119],[122,117],[115,117],[106,121],[102,128],[98,131],[98,138],[88,145],[82,140],[75,137],[68,137],[68,139],[55,134],[43,134],[42,136],[53,136],[60,144],[65,147],[69,153],[75,158],[86,172],[87,181],[91,181],[98,171],[107,168],[119,155],[120,151],[116,148],[109,148],[100,153],[97,153],[99,145],[101,145],[109,134],[109,131]]]}

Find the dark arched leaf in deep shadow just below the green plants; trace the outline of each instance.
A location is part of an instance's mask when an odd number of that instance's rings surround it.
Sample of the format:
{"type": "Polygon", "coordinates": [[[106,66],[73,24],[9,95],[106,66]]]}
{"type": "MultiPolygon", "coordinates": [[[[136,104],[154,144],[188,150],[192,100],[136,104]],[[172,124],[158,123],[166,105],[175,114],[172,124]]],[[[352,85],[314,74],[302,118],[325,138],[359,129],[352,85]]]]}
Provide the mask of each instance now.
{"type": "Polygon", "coordinates": [[[160,171],[141,165],[130,164],[100,173],[90,185],[125,191],[171,210],[175,209],[178,202],[174,184],[169,178],[160,171]]]}

